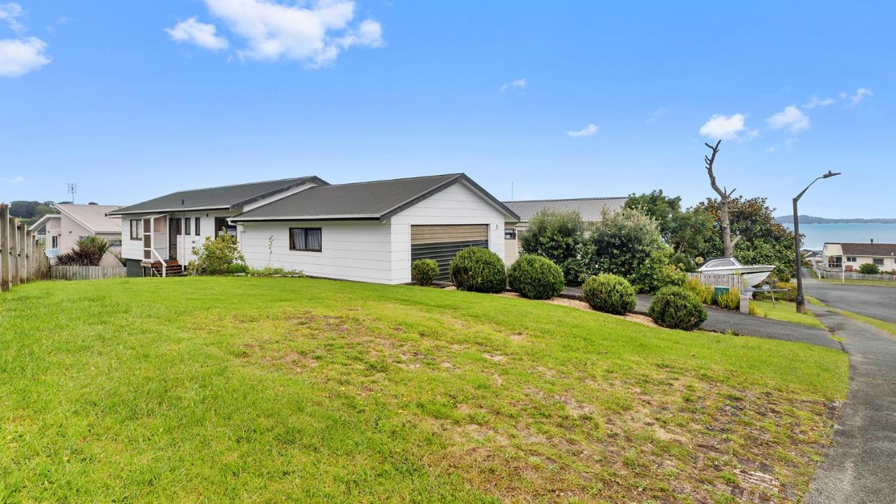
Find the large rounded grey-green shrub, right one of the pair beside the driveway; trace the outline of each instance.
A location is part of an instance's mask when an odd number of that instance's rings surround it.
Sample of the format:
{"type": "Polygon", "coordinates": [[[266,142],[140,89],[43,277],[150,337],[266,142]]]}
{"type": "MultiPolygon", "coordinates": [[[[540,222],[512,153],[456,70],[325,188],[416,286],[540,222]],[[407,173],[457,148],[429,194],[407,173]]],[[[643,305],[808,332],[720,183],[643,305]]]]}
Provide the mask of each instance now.
{"type": "Polygon", "coordinates": [[[604,213],[583,250],[590,274],[622,276],[638,291],[655,291],[668,277],[664,267],[670,249],[663,243],[659,224],[640,210],[604,213]]]}

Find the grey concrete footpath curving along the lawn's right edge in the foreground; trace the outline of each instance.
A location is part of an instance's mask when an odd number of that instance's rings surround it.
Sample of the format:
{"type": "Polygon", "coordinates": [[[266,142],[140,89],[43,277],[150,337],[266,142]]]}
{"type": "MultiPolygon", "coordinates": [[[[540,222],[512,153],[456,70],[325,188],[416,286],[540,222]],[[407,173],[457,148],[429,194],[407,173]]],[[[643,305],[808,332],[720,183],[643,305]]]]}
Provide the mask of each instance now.
{"type": "Polygon", "coordinates": [[[806,503],[896,502],[896,338],[826,308],[810,309],[845,340],[849,395],[806,503]]]}

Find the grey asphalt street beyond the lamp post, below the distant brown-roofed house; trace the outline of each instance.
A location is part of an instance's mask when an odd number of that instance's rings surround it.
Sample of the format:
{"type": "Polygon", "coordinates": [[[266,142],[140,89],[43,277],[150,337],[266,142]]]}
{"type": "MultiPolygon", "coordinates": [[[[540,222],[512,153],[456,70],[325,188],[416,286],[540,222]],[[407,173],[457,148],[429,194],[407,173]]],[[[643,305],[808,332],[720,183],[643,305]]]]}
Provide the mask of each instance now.
{"type": "Polygon", "coordinates": [[[844,285],[804,277],[803,289],[831,306],[896,323],[896,287],[844,285]]]}

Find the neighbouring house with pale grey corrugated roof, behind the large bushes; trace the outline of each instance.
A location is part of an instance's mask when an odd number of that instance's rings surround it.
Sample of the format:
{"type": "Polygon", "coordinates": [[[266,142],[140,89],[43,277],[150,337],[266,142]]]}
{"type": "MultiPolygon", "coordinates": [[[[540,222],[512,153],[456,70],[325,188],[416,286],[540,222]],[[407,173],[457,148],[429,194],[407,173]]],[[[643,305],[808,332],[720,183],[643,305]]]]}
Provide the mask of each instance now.
{"type": "Polygon", "coordinates": [[[628,198],[594,197],[573,199],[534,199],[525,201],[505,201],[507,208],[520,216],[519,222],[507,222],[504,228],[504,262],[513,264],[520,255],[520,234],[529,229],[529,222],[536,213],[578,212],[584,222],[599,222],[604,212],[615,213],[625,206],[628,198]]]}

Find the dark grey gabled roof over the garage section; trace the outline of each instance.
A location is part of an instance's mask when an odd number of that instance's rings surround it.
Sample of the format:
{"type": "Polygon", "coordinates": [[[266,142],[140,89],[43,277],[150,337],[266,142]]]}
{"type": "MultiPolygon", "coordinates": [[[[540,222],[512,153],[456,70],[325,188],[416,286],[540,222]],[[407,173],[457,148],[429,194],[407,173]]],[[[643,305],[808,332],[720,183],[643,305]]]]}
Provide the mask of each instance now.
{"type": "Polygon", "coordinates": [[[377,219],[383,221],[413,204],[418,204],[446,187],[466,182],[489,199],[512,220],[517,215],[479,187],[463,173],[430,177],[395,178],[354,184],[310,187],[295,195],[254,208],[232,217],[243,221],[318,221],[377,219]]]}

